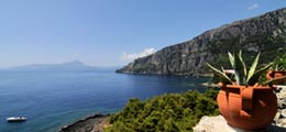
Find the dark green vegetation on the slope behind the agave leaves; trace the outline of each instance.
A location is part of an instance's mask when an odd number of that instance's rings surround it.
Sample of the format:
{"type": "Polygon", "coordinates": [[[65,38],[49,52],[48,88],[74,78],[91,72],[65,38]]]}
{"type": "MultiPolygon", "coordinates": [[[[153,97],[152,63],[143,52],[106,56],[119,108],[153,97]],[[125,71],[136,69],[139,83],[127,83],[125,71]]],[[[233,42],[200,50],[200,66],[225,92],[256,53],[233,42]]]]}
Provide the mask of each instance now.
{"type": "MultiPolygon", "coordinates": [[[[285,26],[280,26],[285,29],[285,26]]],[[[241,37],[231,38],[218,38],[208,42],[206,52],[211,53],[213,59],[209,63],[215,67],[223,66],[226,68],[231,68],[229,65],[228,51],[231,53],[238,53],[240,50],[243,52],[244,62],[246,65],[251,65],[257,51],[261,52],[260,64],[270,64],[275,59],[276,56],[282,56],[286,53],[286,34],[276,36],[275,38],[267,34],[257,34],[251,36],[244,41],[241,37]]],[[[208,68],[204,68],[208,72],[208,68]]]]}

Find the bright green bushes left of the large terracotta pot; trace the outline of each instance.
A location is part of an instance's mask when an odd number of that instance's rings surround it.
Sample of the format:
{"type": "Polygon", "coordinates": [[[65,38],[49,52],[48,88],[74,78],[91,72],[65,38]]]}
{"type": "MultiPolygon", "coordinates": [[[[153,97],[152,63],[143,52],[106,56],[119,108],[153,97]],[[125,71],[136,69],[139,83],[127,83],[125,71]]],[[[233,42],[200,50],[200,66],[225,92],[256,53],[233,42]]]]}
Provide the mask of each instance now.
{"type": "Polygon", "coordinates": [[[202,116],[219,114],[218,91],[188,91],[157,96],[146,101],[130,99],[122,111],[109,118],[107,132],[193,131],[202,116]]]}

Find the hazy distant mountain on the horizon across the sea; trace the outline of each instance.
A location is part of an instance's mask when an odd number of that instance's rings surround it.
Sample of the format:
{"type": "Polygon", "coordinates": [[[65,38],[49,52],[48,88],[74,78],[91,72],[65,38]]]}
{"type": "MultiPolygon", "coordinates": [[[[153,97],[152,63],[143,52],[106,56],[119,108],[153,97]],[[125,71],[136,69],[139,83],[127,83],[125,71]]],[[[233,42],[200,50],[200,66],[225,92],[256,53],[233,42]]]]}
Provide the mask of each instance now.
{"type": "Polygon", "coordinates": [[[63,64],[33,64],[8,68],[9,70],[95,70],[98,67],[88,66],[79,61],[63,64]]]}

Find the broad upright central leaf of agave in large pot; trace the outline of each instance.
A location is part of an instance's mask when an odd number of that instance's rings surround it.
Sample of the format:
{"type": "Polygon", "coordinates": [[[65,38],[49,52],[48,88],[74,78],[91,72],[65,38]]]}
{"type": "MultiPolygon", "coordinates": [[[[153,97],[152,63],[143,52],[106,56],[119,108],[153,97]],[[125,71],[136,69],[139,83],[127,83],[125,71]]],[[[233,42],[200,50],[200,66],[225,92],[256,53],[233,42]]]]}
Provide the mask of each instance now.
{"type": "Polygon", "coordinates": [[[246,73],[245,64],[241,57],[241,52],[239,55],[234,55],[234,75],[238,85],[246,85],[246,73]]]}

